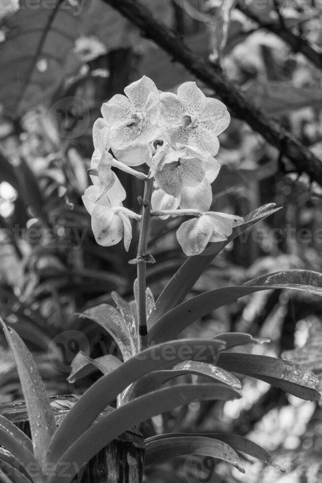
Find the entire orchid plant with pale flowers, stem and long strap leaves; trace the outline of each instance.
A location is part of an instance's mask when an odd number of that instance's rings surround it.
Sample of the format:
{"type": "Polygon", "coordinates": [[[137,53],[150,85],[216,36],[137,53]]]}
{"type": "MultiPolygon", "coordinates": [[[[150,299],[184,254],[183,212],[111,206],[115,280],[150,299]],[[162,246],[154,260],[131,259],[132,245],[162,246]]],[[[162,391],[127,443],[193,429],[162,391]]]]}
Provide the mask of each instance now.
{"type": "MultiPolygon", "coordinates": [[[[306,270],[277,272],[185,300],[227,243],[279,208],[265,205],[244,219],[210,210],[211,183],[220,169],[214,158],[219,149],[218,135],[229,124],[223,103],[205,97],[194,82],[182,84],[177,95],[160,93],[147,77],[129,85],[125,94],[117,94],[103,104],[103,117],[94,124],[95,150],[89,170],[93,185],[83,196],[100,245],[111,246],[123,239],[128,250],[132,238],[130,219],[140,222],[137,256],[130,261],[137,264],[134,300],[126,301],[114,292],[111,296],[116,307],[101,304],[82,314],[108,332],[121,357],[107,354],[92,359],[82,351],[75,356],[70,381],[97,369],[102,377],[56,428],[30,352],[14,329],[1,321],[17,363],[32,434],[31,442],[0,415],[0,443],[10,452],[5,456],[0,451],[0,481],[5,483],[70,483],[99,450],[133,425],[192,401],[239,398],[244,376],[263,380],[302,399],[320,398],[319,380],[305,367],[235,349],[267,340],[241,333],[225,333],[210,340],[177,339],[195,320],[254,292],[279,288],[321,296],[322,274],[306,270]],[[141,165],[148,168],[135,169],[141,165]],[[139,197],[141,214],[123,206],[126,192],[113,167],[144,181],[144,193],[139,197]],[[188,258],[156,301],[146,287],[146,264],[154,262],[147,252],[152,216],[190,217],[177,231],[177,240],[188,258]],[[183,375],[188,377],[186,382],[177,383],[176,378],[183,375]],[[194,379],[189,379],[191,375],[194,379]],[[163,386],[170,380],[171,385],[163,386]],[[115,400],[116,408],[96,420],[115,400]],[[72,462],[71,471],[62,476],[60,468],[66,462],[72,462]],[[30,473],[29,463],[38,465],[36,476],[30,473]],[[1,467],[6,469],[6,479],[2,478],[1,467]]],[[[272,464],[265,449],[238,435],[156,434],[145,440],[145,448],[146,464],[190,453],[224,460],[241,472],[240,454],[272,464]]]]}

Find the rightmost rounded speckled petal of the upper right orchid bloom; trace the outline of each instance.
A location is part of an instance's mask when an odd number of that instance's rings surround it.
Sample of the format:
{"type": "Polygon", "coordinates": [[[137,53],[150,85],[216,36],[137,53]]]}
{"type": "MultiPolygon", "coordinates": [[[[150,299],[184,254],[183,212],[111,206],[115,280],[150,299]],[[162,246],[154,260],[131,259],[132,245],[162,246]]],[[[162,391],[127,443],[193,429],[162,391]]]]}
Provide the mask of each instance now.
{"type": "Polygon", "coordinates": [[[221,101],[218,101],[218,99],[206,99],[207,101],[199,120],[205,129],[218,136],[227,129],[230,115],[225,104],[221,101]]]}

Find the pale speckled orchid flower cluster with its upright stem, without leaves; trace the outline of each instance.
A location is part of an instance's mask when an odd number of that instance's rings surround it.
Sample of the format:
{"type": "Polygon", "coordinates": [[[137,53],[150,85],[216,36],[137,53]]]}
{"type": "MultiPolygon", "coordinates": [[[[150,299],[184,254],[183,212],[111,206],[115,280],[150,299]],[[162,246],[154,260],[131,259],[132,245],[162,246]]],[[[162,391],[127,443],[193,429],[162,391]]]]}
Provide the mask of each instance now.
{"type": "MultiPolygon", "coordinates": [[[[89,170],[93,186],[83,202],[92,217],[97,243],[131,241],[129,218],[141,220],[137,257],[138,325],[141,348],[147,346],[145,273],[153,262],[147,253],[151,216],[192,215],[181,224],[177,240],[186,255],[198,255],[208,242],[222,242],[243,218],[209,211],[211,183],[220,165],[218,135],[228,126],[225,104],[207,98],[195,82],[185,82],[178,93],[160,92],[148,77],[133,82],[102,105],[102,118],[93,128],[94,153],[89,170]],[[110,154],[110,150],[113,152],[110,154]],[[117,159],[116,159],[117,158],[117,159]],[[148,166],[148,174],[131,166],[148,166]],[[142,215],[123,207],[126,192],[112,167],[145,182],[142,215]]],[[[130,262],[130,263],[131,263],[130,262]]]]}

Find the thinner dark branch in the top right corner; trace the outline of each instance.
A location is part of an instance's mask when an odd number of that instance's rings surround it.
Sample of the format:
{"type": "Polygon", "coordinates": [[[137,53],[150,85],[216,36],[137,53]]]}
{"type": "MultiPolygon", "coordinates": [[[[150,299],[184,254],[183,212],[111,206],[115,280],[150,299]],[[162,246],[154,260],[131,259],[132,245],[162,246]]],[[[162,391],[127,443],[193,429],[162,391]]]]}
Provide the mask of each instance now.
{"type": "Polygon", "coordinates": [[[322,53],[315,50],[301,35],[293,34],[283,22],[265,22],[250,8],[247,8],[244,5],[238,5],[237,8],[251,20],[254,20],[259,27],[278,35],[290,45],[294,52],[301,52],[301,54],[305,55],[305,57],[318,69],[322,69],[322,53]]]}

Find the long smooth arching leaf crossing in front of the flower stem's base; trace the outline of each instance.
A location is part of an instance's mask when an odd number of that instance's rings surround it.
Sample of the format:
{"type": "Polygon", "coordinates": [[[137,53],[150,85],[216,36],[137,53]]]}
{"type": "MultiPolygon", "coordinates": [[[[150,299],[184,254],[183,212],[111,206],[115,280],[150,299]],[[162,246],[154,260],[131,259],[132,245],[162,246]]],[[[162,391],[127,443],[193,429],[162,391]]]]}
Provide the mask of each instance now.
{"type": "Polygon", "coordinates": [[[47,461],[56,463],[62,454],[94,422],[97,415],[129,384],[152,371],[169,369],[187,360],[213,362],[225,347],[220,340],[179,339],[143,350],[110,374],[101,377],[77,401],[57,428],[47,461]]]}

